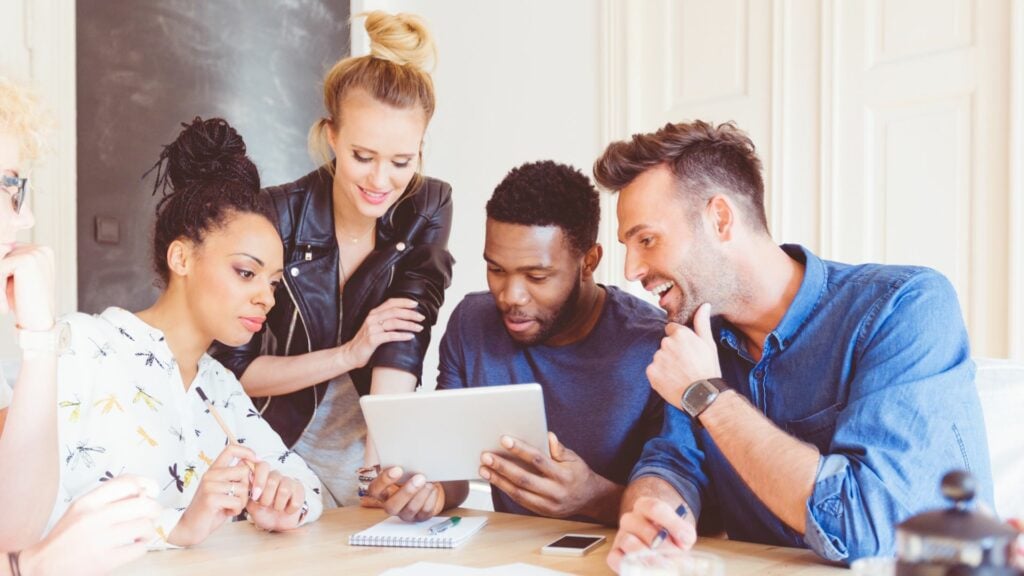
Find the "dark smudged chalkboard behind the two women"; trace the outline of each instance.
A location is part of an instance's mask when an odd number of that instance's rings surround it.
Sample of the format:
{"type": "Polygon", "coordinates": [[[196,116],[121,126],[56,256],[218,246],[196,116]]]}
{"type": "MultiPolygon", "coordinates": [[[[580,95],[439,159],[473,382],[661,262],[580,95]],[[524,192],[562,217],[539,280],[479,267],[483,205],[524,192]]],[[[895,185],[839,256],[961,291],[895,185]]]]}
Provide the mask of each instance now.
{"type": "MultiPolygon", "coordinates": [[[[222,116],[264,186],[313,168],[306,133],[324,73],[348,53],[343,0],[78,0],[79,307],[141,310],[158,295],[150,258],[152,179],[139,179],[182,121],[222,116]],[[116,220],[116,244],[96,217],[116,220]]],[[[152,174],[151,174],[152,178],[152,174]]]]}

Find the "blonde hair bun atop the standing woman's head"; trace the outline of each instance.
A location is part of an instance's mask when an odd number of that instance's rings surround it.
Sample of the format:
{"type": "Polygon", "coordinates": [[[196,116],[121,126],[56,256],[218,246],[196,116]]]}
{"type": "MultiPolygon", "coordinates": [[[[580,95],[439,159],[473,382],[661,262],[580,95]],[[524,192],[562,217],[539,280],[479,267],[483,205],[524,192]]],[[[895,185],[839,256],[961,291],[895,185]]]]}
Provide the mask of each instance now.
{"type": "Polygon", "coordinates": [[[389,14],[381,10],[365,15],[364,26],[370,35],[370,55],[424,71],[437,59],[434,39],[420,16],[389,14]]]}

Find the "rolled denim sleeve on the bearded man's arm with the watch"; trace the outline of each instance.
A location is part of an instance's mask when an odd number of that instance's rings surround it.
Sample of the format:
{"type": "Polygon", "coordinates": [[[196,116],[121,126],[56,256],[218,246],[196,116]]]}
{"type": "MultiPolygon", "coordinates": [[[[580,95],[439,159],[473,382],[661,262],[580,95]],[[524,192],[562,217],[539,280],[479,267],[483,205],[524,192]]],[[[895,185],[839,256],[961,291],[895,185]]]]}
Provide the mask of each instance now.
{"type": "Polygon", "coordinates": [[[991,472],[967,330],[952,286],[933,271],[894,285],[856,342],[839,413],[807,503],[804,542],[831,561],[895,552],[895,526],[943,506],[942,476],[972,471],[991,502],[991,472]]]}

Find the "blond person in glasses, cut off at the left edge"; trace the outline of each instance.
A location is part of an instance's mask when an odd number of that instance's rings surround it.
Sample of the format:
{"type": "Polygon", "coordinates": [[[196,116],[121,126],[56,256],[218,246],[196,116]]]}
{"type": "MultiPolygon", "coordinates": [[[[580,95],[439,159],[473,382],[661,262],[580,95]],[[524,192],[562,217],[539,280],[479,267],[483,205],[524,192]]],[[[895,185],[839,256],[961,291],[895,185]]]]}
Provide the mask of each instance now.
{"type": "Polygon", "coordinates": [[[152,480],[123,476],[75,502],[46,538],[57,493],[53,252],[19,243],[35,223],[25,170],[40,153],[45,116],[0,76],[0,314],[12,315],[22,352],[11,390],[0,372],[0,576],[103,574],[145,552],[160,506],[152,480]]]}

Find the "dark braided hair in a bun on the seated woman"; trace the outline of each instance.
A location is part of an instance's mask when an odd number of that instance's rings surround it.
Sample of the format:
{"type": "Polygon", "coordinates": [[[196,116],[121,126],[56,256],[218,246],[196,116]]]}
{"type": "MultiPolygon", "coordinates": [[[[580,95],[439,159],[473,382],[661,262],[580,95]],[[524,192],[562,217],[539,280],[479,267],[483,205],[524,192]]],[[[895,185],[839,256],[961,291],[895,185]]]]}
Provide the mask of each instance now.
{"type": "Polygon", "coordinates": [[[178,239],[202,244],[211,230],[238,214],[273,216],[259,193],[259,172],[246,155],[246,142],[222,118],[196,117],[143,177],[157,171],[153,194],[157,204],[153,265],[164,285],[170,278],[167,249],[178,239]]]}

